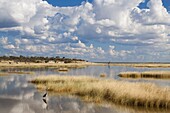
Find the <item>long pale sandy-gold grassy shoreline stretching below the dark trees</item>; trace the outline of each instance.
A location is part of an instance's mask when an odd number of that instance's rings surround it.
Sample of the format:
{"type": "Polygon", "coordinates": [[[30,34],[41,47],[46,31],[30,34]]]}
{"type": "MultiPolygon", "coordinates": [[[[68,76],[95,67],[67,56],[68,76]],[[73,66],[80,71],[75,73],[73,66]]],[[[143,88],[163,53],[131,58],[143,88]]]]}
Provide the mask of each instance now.
{"type": "Polygon", "coordinates": [[[79,62],[79,63],[2,63],[0,62],[0,68],[4,67],[31,67],[31,68],[41,68],[41,67],[68,67],[68,68],[81,68],[85,66],[126,66],[126,67],[136,67],[136,68],[170,68],[170,63],[95,63],[95,62],[79,62]]]}

